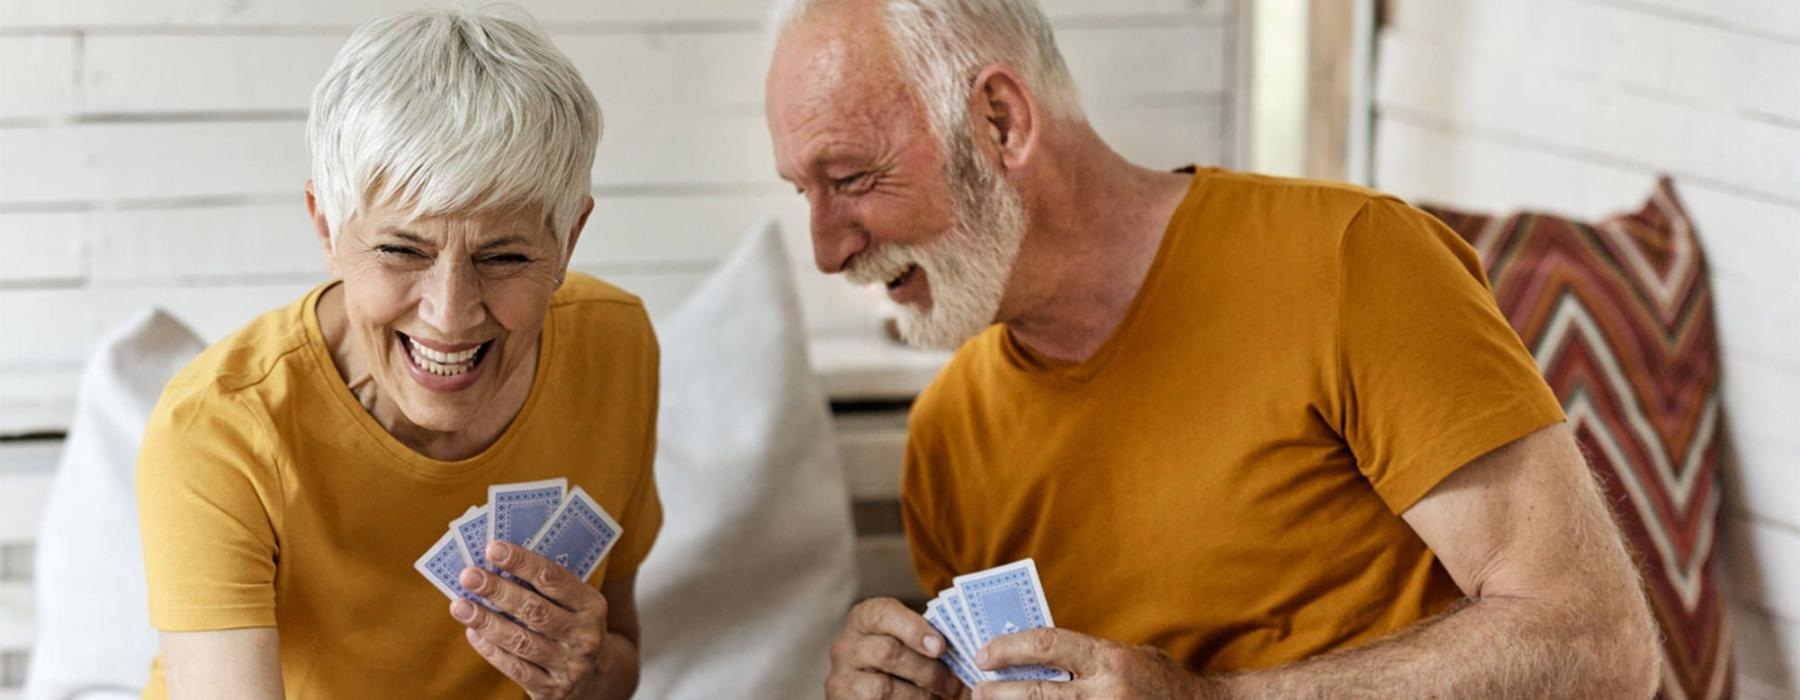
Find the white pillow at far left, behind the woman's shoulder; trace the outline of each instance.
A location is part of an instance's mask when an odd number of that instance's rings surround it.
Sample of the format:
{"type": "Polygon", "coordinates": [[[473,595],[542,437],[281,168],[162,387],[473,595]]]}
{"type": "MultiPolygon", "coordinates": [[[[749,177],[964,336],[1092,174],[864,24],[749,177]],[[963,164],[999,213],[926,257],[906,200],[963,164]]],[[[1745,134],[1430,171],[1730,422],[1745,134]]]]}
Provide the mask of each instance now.
{"type": "Polygon", "coordinates": [[[103,340],[81,372],[38,534],[38,637],[25,696],[137,696],[157,657],[133,470],[162,385],[205,349],[160,310],[103,340]]]}

